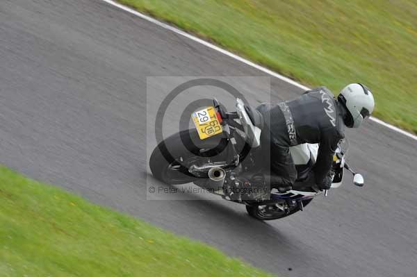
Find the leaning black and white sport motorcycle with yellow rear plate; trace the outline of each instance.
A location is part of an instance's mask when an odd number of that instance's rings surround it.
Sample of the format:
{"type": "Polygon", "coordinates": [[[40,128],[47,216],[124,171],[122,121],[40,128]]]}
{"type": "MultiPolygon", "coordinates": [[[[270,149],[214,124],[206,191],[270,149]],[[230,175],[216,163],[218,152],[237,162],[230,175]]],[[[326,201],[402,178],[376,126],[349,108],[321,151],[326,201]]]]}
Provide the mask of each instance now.
{"type": "MultiPolygon", "coordinates": [[[[193,182],[223,199],[245,204],[248,214],[256,219],[272,220],[301,211],[320,190],[313,181],[313,166],[318,144],[300,144],[290,148],[297,169],[292,190],[268,190],[268,197],[257,198],[250,190],[247,174],[262,172],[262,115],[241,99],[236,99],[236,112],[227,112],[217,99],[213,106],[193,112],[195,127],[180,131],[160,142],[152,152],[149,166],[153,176],[170,185],[193,182]],[[238,189],[243,189],[243,194],[238,189]],[[248,189],[249,188],[249,189],[248,189]]],[[[332,165],[332,188],[343,181],[343,169],[353,175],[353,183],[364,184],[363,176],[345,161],[347,140],[339,143],[332,165]]]]}

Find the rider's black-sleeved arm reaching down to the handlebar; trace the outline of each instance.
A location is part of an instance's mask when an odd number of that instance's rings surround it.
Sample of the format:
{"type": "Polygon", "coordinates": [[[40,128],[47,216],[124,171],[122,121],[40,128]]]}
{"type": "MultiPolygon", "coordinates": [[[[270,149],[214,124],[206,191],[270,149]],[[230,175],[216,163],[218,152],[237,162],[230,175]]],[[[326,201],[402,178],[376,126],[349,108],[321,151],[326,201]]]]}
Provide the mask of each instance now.
{"type": "Polygon", "coordinates": [[[322,133],[318,156],[314,167],[316,184],[321,184],[332,168],[333,155],[336,151],[338,142],[343,139],[343,135],[336,129],[329,129],[322,133]]]}

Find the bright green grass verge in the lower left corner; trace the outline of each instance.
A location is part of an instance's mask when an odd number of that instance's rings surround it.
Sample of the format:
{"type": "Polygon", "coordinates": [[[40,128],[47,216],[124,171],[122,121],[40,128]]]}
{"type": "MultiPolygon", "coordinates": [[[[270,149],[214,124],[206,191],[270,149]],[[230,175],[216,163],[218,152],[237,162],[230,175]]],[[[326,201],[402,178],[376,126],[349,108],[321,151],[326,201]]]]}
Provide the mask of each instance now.
{"type": "Polygon", "coordinates": [[[0,276],[269,276],[0,166],[0,276]]]}

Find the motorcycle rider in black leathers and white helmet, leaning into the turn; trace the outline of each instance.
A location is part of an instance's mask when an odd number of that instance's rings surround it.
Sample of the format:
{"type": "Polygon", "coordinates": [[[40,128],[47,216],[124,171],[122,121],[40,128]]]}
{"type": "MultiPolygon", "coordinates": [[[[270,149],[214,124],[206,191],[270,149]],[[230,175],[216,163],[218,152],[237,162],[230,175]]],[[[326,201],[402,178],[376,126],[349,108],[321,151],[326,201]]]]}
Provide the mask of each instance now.
{"type": "Polygon", "coordinates": [[[264,118],[261,145],[270,174],[265,183],[280,192],[291,190],[297,170],[290,146],[318,143],[318,156],[313,169],[321,190],[332,185],[330,169],[334,151],[344,135],[344,127],[358,128],[373,112],[373,94],[360,83],[347,85],[337,99],[327,87],[306,91],[299,98],[277,105],[263,103],[256,108],[264,118]]]}

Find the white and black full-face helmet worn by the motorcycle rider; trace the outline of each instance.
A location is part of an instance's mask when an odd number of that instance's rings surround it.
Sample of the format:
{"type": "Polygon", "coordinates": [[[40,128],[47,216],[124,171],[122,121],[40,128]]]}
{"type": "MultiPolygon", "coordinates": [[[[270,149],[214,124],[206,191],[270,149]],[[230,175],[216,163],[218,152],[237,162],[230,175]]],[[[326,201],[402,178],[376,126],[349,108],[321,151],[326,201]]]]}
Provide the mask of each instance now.
{"type": "Polygon", "coordinates": [[[361,126],[363,119],[370,117],[375,108],[372,92],[360,83],[347,85],[337,97],[345,106],[345,125],[350,128],[361,126]]]}

